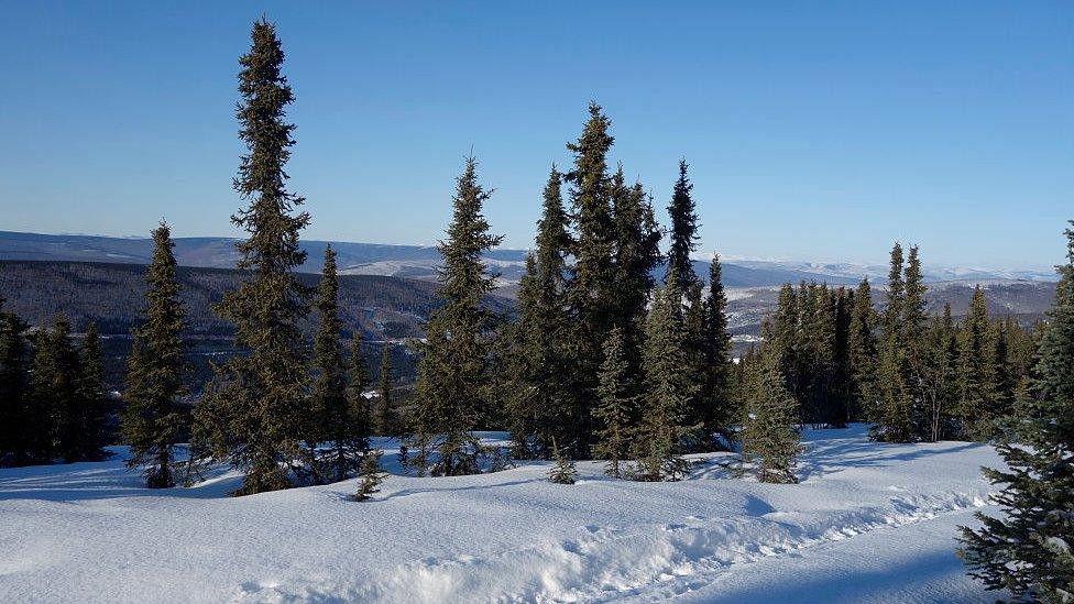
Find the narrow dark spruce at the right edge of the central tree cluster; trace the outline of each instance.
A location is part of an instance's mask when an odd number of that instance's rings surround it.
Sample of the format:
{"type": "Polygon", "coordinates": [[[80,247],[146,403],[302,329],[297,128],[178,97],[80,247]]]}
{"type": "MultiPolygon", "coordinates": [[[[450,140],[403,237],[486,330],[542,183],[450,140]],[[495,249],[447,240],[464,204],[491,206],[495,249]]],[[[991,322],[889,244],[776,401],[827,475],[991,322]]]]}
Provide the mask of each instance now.
{"type": "Polygon", "coordinates": [[[727,332],[727,296],[723,288],[720,256],[713,254],[709,265],[709,295],[703,303],[701,331],[702,391],[700,413],[702,433],[710,448],[723,449],[735,440],[735,409],[732,408],[731,334],[727,332]],[[715,437],[715,438],[714,438],[715,437]]]}

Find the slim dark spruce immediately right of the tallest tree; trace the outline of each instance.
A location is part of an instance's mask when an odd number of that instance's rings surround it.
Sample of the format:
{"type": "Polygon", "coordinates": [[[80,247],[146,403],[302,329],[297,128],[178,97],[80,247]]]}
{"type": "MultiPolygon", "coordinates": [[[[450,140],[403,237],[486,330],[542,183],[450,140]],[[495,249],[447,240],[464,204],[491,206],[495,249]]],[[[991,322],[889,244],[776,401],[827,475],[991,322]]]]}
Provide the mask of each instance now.
{"type": "Polygon", "coordinates": [[[339,276],[331,245],[325,249],[317,314],[320,326],[314,338],[314,422],[307,441],[314,452],[315,477],[338,482],[359,469],[366,441],[361,418],[347,397],[347,366],[339,342],[343,328],[339,319],[339,276]],[[327,444],[322,454],[317,451],[318,442],[327,444]]]}

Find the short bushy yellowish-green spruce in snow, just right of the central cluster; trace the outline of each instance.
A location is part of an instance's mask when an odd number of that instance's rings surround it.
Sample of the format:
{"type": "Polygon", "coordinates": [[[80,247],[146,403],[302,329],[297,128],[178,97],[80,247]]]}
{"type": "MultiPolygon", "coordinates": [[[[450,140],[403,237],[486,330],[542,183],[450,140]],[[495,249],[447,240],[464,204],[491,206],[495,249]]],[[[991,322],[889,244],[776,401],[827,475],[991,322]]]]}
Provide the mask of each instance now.
{"type": "Polygon", "coordinates": [[[757,480],[796,483],[794,460],[801,449],[794,429],[796,403],[785,386],[778,359],[771,349],[747,377],[749,397],[742,433],[742,457],[757,465],[757,480]]]}

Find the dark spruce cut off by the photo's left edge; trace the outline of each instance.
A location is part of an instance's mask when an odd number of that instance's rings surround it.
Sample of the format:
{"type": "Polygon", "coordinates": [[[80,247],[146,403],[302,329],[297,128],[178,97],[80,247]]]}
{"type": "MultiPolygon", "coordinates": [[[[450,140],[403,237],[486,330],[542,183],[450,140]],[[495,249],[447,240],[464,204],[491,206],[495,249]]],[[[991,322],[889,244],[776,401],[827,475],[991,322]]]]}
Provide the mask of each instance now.
{"type": "Polygon", "coordinates": [[[25,330],[26,323],[14,314],[0,312],[0,466],[33,463],[31,435],[45,429],[33,421],[25,330]]]}

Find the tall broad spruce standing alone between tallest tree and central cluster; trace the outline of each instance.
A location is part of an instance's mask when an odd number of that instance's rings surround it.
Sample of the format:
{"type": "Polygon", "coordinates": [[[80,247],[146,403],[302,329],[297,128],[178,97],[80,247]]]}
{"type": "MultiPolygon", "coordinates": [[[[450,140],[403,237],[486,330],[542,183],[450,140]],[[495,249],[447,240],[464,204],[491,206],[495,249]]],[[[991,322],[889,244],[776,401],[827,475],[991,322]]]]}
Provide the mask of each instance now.
{"type": "Polygon", "coordinates": [[[452,199],[447,240],[439,245],[443,267],[437,297],[442,304],[426,326],[414,430],[408,438],[408,446],[416,450],[412,463],[419,473],[431,470],[456,475],[480,470],[480,443],[472,431],[491,404],[489,355],[495,322],[493,311],[483,304],[495,275],[487,274],[482,255],[498,245],[502,237],[489,233],[482,206],[490,194],[478,183],[476,166],[473,157],[467,158],[452,199]],[[431,469],[430,452],[438,458],[431,469]]]}

